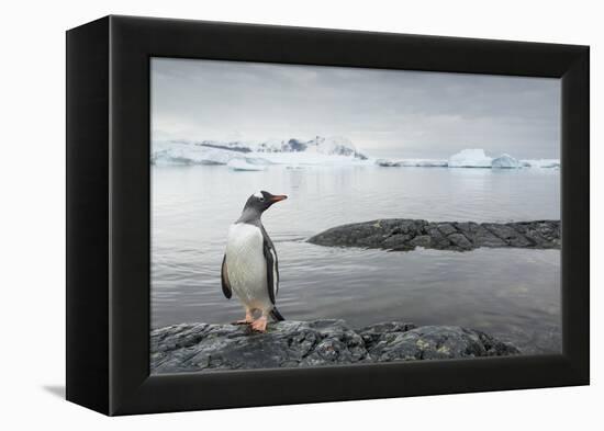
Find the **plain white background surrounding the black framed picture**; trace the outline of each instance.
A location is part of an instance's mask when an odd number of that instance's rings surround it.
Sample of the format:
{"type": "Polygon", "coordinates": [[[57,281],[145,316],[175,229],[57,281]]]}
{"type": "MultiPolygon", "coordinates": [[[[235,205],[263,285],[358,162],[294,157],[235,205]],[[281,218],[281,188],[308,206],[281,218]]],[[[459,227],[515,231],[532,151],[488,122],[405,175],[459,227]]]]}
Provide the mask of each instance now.
{"type": "Polygon", "coordinates": [[[596,1],[180,1],[5,2],[0,24],[0,428],[179,429],[595,429],[604,383],[601,251],[592,247],[592,386],[105,418],[64,401],[65,34],[105,14],[133,14],[592,46],[592,245],[604,240],[602,12],[596,1]],[[602,75],[600,75],[601,77],[602,75]],[[600,251],[600,253],[597,253],[600,251]],[[35,427],[35,428],[34,428],[35,427]]]}

